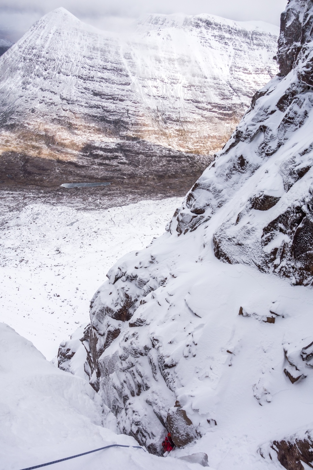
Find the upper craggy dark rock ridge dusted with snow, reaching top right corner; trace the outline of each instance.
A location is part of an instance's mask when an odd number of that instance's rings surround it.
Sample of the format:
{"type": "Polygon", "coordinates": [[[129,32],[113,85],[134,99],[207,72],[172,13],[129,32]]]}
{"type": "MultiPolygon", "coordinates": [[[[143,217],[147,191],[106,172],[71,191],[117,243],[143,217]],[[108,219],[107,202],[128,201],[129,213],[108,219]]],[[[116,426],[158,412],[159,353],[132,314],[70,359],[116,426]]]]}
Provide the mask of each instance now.
{"type": "Polygon", "coordinates": [[[213,236],[219,259],[311,284],[311,3],[288,4],[278,57],[280,75],[254,96],[232,138],[188,193],[171,231],[195,230],[224,206],[213,236]]]}

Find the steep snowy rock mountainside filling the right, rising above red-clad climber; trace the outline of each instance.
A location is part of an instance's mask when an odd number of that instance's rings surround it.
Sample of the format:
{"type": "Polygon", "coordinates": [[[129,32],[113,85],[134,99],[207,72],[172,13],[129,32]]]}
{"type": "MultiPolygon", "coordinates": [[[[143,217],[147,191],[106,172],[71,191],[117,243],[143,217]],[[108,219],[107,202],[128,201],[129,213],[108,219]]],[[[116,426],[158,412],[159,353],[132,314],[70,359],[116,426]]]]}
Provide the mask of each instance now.
{"type": "Polygon", "coordinates": [[[280,75],[60,347],[74,372],[85,346],[90,383],[152,453],[170,430],[219,470],[312,466],[312,24],[312,1],[290,0],[280,75]]]}

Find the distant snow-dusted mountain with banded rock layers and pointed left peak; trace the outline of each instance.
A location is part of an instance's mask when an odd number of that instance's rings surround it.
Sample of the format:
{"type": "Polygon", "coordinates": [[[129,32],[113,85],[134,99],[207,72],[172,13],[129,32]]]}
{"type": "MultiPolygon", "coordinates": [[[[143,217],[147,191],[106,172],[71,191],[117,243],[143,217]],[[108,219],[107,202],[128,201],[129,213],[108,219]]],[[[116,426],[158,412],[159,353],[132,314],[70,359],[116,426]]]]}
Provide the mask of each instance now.
{"type": "Polygon", "coordinates": [[[5,173],[44,180],[55,173],[49,160],[63,171],[70,160],[85,177],[92,167],[99,178],[195,178],[198,156],[221,148],[277,73],[278,33],[262,22],[151,15],[125,37],[56,9],[0,59],[5,173]]]}

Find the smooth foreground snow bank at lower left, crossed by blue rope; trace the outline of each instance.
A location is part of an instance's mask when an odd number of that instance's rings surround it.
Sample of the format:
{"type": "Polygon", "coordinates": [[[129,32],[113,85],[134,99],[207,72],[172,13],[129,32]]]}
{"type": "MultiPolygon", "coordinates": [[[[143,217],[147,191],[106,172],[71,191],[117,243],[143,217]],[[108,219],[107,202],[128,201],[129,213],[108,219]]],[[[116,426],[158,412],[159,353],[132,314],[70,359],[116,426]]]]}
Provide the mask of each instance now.
{"type": "MultiPolygon", "coordinates": [[[[0,323],[0,470],[20,470],[111,444],[138,446],[117,434],[116,418],[84,379],[55,368],[0,323]],[[106,426],[106,427],[103,427],[106,426]]],[[[113,447],[50,470],[196,470],[199,464],[113,447]]]]}

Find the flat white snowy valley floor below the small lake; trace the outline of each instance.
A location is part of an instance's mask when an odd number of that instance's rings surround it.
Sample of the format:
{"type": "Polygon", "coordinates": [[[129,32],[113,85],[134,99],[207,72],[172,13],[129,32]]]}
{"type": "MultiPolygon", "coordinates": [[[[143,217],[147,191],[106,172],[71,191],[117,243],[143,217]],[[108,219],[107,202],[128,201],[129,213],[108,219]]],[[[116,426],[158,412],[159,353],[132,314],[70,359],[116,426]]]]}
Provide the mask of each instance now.
{"type": "Polygon", "coordinates": [[[162,235],[180,198],[103,211],[30,204],[0,218],[0,321],[55,357],[89,321],[96,286],[125,252],[162,235]]]}

